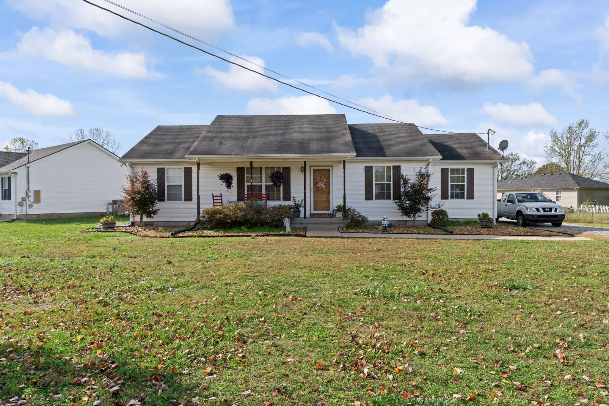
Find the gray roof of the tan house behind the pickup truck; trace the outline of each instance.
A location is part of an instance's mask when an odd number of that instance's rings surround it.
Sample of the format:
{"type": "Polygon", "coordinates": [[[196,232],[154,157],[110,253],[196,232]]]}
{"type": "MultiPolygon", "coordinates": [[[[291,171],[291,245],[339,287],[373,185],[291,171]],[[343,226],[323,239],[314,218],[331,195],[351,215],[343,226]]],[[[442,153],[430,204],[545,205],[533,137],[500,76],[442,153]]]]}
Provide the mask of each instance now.
{"type": "Polygon", "coordinates": [[[609,183],[584,178],[572,173],[543,173],[529,178],[506,179],[497,183],[497,189],[609,189],[609,183]]]}

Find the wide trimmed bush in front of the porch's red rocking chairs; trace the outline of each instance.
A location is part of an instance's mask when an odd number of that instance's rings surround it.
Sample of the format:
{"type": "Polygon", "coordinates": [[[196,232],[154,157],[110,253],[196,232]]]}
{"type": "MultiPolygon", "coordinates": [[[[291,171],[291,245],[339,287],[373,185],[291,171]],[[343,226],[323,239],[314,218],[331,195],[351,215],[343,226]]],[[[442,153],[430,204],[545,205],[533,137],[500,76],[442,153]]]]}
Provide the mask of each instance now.
{"type": "Polygon", "coordinates": [[[209,207],[203,209],[200,217],[207,219],[209,228],[281,227],[284,217],[289,217],[290,221],[295,219],[286,205],[266,207],[261,201],[209,207]]]}

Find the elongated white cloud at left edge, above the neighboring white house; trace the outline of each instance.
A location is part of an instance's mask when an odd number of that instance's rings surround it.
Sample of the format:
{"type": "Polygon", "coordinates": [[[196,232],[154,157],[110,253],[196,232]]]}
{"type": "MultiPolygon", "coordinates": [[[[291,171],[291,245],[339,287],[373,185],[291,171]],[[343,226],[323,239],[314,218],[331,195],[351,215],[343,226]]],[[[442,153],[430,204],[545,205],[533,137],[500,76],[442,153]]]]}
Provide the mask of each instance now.
{"type": "Polygon", "coordinates": [[[16,107],[37,116],[74,116],[74,107],[69,100],[49,93],[36,93],[32,89],[23,92],[7,82],[0,82],[0,97],[5,97],[16,107]]]}

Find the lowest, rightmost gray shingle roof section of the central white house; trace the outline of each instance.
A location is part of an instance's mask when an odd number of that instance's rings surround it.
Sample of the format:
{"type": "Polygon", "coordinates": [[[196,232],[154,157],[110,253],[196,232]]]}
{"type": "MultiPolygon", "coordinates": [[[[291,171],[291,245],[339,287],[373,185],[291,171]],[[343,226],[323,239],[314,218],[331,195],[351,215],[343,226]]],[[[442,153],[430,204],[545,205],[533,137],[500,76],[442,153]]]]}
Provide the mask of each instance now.
{"type": "Polygon", "coordinates": [[[441,161],[496,161],[504,159],[493,147],[487,150],[487,142],[476,133],[426,134],[424,137],[442,155],[441,161]]]}

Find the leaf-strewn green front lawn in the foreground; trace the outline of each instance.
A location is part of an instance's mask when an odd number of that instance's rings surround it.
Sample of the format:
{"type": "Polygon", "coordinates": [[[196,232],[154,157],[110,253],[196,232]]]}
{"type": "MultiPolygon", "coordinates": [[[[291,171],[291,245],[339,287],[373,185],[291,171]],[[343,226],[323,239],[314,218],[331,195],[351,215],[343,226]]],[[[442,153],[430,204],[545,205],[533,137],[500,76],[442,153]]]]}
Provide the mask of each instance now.
{"type": "Polygon", "coordinates": [[[605,240],[79,233],[97,220],[0,223],[1,401],[609,401],[605,240]]]}

